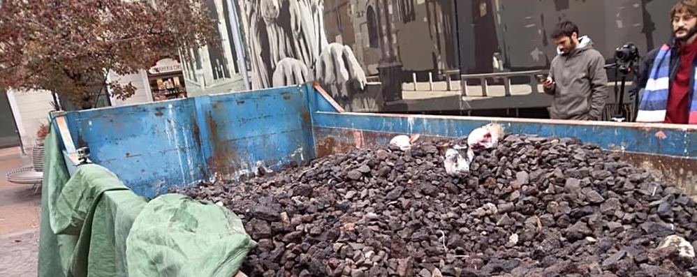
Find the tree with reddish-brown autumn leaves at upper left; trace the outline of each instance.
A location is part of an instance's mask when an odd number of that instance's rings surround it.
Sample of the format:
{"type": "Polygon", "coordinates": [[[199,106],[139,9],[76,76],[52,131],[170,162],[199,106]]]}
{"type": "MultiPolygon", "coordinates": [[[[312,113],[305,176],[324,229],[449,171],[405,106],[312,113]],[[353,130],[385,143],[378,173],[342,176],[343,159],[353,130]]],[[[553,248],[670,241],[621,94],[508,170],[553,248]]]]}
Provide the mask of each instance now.
{"type": "Polygon", "coordinates": [[[135,93],[109,72],[137,73],[162,57],[190,59],[182,49],[215,45],[217,22],[204,0],[0,3],[0,87],[46,89],[83,109],[106,87],[119,99],[135,93]]]}

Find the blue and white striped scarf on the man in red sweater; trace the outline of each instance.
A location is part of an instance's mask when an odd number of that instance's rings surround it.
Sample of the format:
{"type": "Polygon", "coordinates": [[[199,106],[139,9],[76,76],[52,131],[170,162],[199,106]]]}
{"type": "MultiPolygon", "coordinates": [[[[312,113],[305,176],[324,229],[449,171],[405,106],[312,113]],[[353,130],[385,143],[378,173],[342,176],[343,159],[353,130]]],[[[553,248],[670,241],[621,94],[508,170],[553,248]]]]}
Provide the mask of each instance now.
{"type": "MultiPolygon", "coordinates": [[[[696,74],[694,70],[692,74],[696,74]]],[[[697,78],[692,80],[693,87],[689,93],[689,123],[697,124],[697,78]]],[[[661,123],[666,121],[666,109],[668,107],[668,94],[670,90],[670,47],[664,44],[656,54],[654,66],[651,68],[649,79],[646,82],[644,96],[639,104],[637,122],[661,123]]]]}

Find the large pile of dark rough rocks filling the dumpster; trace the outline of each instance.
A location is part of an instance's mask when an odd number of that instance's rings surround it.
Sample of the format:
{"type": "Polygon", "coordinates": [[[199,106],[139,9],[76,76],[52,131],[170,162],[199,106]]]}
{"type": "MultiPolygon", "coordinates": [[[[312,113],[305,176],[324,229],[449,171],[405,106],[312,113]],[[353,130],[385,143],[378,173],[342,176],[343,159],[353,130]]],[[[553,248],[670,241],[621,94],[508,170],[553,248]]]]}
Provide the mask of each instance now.
{"type": "Polygon", "coordinates": [[[242,269],[250,276],[696,272],[694,255],[657,247],[673,234],[697,240],[696,203],[616,154],[508,135],[453,177],[436,145],[355,149],[179,193],[242,218],[258,242],[242,269]]]}

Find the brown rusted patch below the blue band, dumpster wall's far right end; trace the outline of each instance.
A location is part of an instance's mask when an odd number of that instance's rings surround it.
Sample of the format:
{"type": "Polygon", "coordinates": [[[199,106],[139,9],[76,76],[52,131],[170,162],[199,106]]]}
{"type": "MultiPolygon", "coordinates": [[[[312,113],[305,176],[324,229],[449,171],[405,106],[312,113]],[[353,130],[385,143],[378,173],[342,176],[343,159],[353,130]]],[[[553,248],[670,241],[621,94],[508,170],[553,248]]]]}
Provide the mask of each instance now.
{"type": "Polygon", "coordinates": [[[682,188],[691,197],[697,196],[697,159],[640,153],[619,153],[627,163],[648,170],[666,184],[682,188]]]}

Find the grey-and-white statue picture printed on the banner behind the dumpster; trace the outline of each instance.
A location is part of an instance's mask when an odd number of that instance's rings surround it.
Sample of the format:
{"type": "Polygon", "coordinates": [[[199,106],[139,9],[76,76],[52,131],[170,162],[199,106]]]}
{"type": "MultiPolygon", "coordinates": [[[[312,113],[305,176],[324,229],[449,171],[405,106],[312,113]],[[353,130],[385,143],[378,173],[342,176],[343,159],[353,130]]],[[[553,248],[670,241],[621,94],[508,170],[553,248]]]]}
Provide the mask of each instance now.
{"type": "Polygon", "coordinates": [[[329,43],[323,0],[240,0],[252,89],[316,80],[346,110],[376,107],[361,97],[366,76],[353,50],[329,43]]]}

